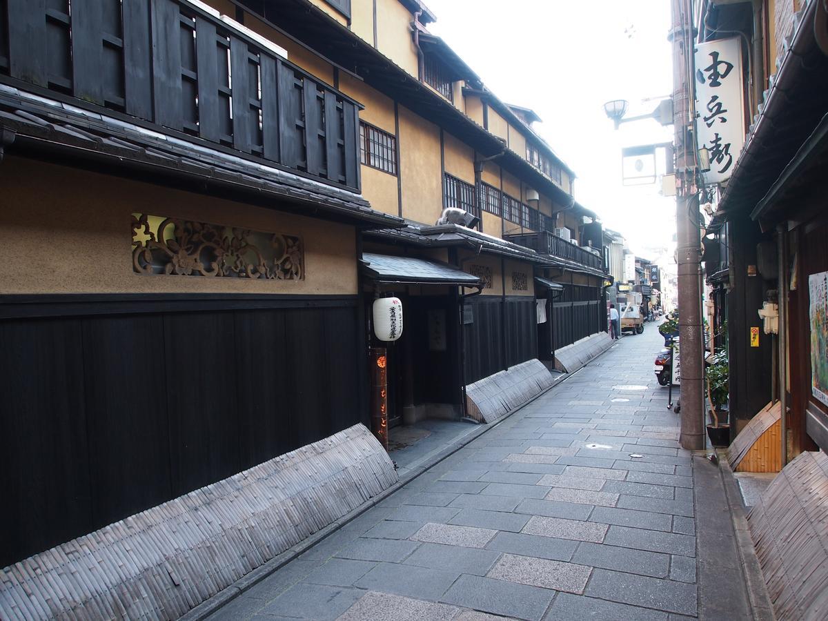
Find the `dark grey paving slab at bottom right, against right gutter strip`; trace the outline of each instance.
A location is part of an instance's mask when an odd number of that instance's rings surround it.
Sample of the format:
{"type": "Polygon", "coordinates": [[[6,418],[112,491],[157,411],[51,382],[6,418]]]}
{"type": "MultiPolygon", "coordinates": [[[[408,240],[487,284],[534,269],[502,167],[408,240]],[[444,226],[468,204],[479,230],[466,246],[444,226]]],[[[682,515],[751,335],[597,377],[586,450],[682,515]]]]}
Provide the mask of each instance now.
{"type": "Polygon", "coordinates": [[[596,569],[586,595],[678,614],[696,615],[696,585],[596,569]]]}

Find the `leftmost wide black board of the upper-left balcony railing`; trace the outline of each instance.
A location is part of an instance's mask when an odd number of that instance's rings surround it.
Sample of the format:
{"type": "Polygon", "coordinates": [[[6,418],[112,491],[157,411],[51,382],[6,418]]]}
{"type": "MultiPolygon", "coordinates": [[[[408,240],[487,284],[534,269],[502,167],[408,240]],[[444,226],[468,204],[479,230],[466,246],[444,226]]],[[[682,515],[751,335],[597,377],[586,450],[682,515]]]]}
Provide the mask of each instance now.
{"type": "Polygon", "coordinates": [[[7,2],[9,73],[13,78],[46,86],[46,0],[7,2]]]}

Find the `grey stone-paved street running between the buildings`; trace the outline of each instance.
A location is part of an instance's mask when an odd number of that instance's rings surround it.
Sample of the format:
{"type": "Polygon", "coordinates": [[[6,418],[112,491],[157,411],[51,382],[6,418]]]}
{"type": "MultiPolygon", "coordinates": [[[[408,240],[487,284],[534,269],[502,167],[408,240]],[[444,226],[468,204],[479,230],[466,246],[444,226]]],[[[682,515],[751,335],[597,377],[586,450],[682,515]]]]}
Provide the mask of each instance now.
{"type": "Polygon", "coordinates": [[[694,499],[706,462],[652,373],[661,345],[654,324],[624,337],[211,619],[749,618],[718,470],[694,499]],[[721,518],[702,563],[696,506],[721,518]],[[700,567],[711,593],[728,572],[724,600],[699,597],[700,567]]]}

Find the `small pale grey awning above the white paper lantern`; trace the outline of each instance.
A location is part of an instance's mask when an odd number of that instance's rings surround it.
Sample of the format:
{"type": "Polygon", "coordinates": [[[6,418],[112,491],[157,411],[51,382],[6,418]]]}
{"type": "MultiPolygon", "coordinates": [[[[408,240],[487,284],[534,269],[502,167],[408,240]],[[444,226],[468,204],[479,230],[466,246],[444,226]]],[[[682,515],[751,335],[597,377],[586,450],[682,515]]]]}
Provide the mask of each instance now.
{"type": "Polygon", "coordinates": [[[478,286],[480,279],[456,267],[416,257],[363,253],[363,271],[376,282],[405,282],[421,285],[478,286]]]}

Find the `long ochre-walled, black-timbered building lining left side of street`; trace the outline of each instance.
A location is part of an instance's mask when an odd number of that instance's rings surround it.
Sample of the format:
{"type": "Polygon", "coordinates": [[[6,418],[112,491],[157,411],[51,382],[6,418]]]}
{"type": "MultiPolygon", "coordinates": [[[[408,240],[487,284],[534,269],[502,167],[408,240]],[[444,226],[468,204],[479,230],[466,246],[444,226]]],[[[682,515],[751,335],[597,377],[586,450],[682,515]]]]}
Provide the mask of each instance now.
{"type": "Polygon", "coordinates": [[[378,296],[392,421],[606,329],[574,173],[434,19],[0,2],[0,566],[369,425],[378,296]]]}

